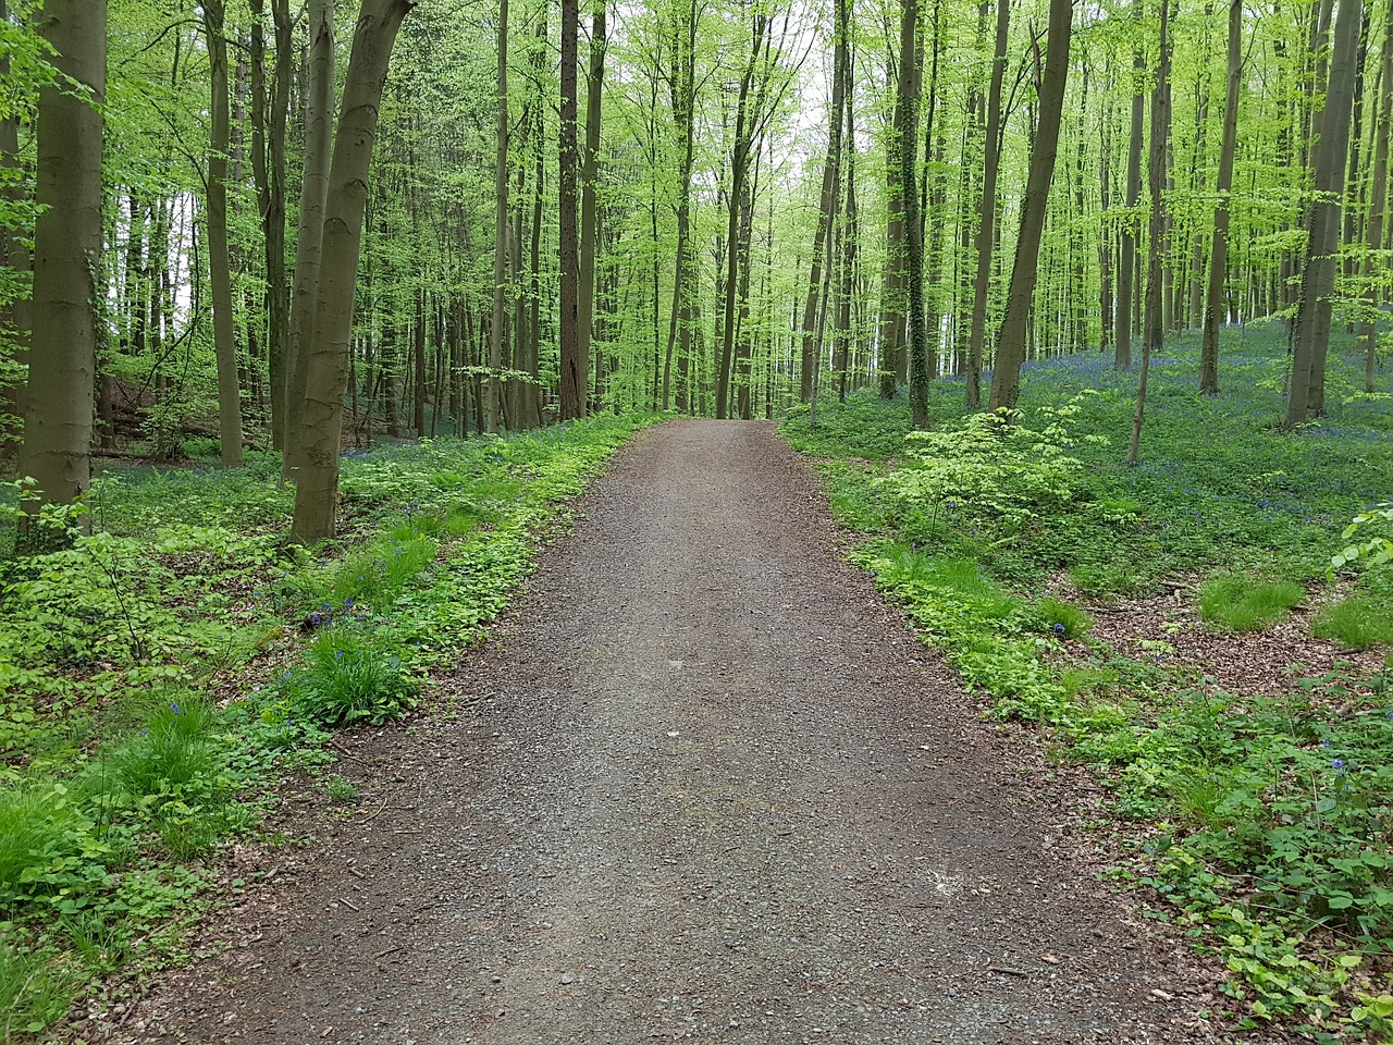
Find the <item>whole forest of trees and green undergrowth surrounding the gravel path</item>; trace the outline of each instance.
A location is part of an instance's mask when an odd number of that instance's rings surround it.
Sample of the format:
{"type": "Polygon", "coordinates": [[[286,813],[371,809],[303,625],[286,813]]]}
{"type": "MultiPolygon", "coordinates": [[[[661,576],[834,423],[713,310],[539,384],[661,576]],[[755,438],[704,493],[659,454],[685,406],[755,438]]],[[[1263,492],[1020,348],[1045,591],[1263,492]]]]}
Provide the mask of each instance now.
{"type": "Polygon", "coordinates": [[[1195,1025],[1393,1039],[1390,131],[1378,0],[0,0],[0,1041],[379,815],[340,737],[683,418],[1102,796],[1195,1025]]]}

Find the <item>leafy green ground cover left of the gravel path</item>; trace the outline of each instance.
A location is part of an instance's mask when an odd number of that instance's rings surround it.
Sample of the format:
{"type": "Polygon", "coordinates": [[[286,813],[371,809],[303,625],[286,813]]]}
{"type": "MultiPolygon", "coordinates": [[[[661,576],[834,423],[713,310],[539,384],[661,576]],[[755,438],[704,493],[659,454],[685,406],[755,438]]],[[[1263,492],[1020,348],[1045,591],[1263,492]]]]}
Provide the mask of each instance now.
{"type": "Polygon", "coordinates": [[[288,771],[326,775],[330,730],[425,699],[651,421],[348,454],[343,535],[316,549],[286,542],[276,457],[113,468],[91,536],[0,555],[0,1041],[98,977],[178,960],[220,843],[262,830],[288,771]]]}

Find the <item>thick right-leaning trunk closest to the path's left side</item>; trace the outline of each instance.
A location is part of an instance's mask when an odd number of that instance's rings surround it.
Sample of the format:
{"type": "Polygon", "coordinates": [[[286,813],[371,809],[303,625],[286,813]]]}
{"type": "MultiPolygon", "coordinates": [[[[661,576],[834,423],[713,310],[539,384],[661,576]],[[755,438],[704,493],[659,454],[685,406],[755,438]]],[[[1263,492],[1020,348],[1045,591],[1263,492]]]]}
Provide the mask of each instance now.
{"type": "Polygon", "coordinates": [[[333,536],[338,502],[343,396],[348,382],[354,288],[368,203],[368,171],[391,46],[411,0],[364,0],[354,29],[343,114],[334,135],[325,215],[323,263],[305,385],[305,439],[291,536],[333,536]]]}

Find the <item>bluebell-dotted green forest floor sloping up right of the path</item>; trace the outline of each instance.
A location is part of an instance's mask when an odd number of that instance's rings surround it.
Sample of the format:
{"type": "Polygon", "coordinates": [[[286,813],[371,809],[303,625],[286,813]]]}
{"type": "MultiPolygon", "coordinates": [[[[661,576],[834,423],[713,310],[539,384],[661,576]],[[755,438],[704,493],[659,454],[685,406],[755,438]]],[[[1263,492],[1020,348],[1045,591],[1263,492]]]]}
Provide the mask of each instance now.
{"type": "Polygon", "coordinates": [[[1330,417],[1277,432],[1283,340],[1227,332],[1219,397],[1195,392],[1197,347],[1169,347],[1137,468],[1135,373],[1096,355],[1029,365],[1010,429],[944,380],[928,433],[866,393],[783,432],[819,458],[853,562],[983,712],[1099,794],[1110,874],[1223,959],[1216,1012],[1383,1039],[1393,568],[1332,556],[1393,499],[1393,396],[1336,358],[1330,417]]]}

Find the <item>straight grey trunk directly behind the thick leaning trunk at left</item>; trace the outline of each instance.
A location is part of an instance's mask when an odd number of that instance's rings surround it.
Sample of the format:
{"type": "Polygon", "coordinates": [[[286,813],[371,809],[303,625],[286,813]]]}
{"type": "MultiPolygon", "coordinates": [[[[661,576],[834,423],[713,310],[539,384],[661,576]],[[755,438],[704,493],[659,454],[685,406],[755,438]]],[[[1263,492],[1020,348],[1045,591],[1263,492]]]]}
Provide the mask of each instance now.
{"type": "MultiPolygon", "coordinates": [[[[279,4],[283,0],[273,0],[279,4]]],[[[277,31],[279,35],[279,31],[277,31]]],[[[279,43],[277,43],[279,46],[279,43]]],[[[281,481],[299,474],[304,446],[305,382],[309,341],[315,333],[315,302],[323,261],[325,208],[334,135],[334,4],[309,0],[309,79],[305,89],[305,173],[299,185],[299,226],[295,231],[295,286],[290,300],[290,340],[286,344],[286,454],[281,481]]]]}

